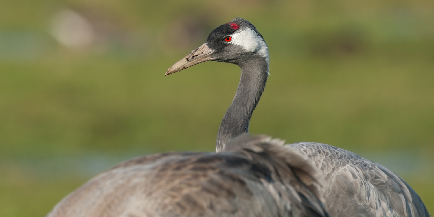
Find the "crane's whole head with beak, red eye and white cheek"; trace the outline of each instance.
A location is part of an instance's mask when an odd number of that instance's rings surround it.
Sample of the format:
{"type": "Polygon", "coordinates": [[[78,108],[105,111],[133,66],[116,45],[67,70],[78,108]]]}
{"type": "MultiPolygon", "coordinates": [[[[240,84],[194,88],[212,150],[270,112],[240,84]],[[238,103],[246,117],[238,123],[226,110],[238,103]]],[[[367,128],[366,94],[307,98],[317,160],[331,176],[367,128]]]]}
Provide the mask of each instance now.
{"type": "Polygon", "coordinates": [[[253,56],[260,56],[268,62],[267,45],[255,26],[247,20],[235,18],[213,30],[202,46],[175,63],[166,75],[208,60],[240,65],[253,56]]]}

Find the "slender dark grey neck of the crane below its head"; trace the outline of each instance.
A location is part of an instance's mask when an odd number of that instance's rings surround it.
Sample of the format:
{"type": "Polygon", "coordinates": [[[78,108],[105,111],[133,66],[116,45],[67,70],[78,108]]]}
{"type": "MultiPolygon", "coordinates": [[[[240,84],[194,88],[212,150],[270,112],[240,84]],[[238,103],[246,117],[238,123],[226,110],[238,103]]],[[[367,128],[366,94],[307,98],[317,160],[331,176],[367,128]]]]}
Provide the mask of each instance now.
{"type": "Polygon", "coordinates": [[[216,152],[230,139],[249,132],[250,117],[259,102],[268,77],[268,60],[253,56],[242,64],[240,84],[217,134],[216,152]]]}

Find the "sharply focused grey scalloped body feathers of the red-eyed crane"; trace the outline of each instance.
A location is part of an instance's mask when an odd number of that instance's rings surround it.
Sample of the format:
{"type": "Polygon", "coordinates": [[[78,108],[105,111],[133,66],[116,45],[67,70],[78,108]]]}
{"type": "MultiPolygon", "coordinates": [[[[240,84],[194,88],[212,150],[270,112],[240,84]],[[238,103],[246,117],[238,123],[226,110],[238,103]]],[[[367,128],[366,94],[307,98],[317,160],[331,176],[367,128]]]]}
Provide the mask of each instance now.
{"type": "Polygon", "coordinates": [[[418,194],[380,164],[321,143],[286,147],[301,151],[322,171],[321,192],[331,216],[429,217],[418,194]]]}

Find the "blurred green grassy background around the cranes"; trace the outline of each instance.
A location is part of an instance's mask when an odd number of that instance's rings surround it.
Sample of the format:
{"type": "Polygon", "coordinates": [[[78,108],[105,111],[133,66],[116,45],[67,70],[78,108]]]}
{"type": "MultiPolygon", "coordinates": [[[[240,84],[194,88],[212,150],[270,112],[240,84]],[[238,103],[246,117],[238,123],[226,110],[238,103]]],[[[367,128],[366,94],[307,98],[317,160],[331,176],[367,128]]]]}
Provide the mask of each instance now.
{"type": "Polygon", "coordinates": [[[270,50],[251,133],[383,164],[434,213],[434,1],[14,0],[0,3],[0,216],[44,216],[135,156],[214,151],[240,69],[164,72],[234,17],[270,50]]]}

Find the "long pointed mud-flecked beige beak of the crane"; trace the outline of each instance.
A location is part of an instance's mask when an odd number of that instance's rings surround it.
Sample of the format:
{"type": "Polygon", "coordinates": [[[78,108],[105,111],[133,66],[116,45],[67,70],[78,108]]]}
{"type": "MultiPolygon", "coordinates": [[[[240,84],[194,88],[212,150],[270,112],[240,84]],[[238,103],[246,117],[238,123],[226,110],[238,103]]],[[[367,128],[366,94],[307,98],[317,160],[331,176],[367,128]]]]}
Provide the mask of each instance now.
{"type": "Polygon", "coordinates": [[[179,72],[182,69],[187,69],[190,66],[194,66],[198,63],[205,62],[208,60],[213,60],[212,53],[214,50],[210,49],[207,44],[203,44],[199,48],[195,49],[193,52],[191,52],[189,55],[184,57],[184,59],[181,59],[177,63],[175,63],[172,67],[170,67],[167,72],[166,76],[170,75],[175,72],[179,72]]]}

